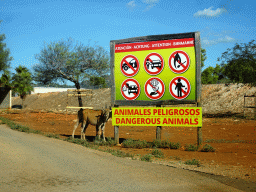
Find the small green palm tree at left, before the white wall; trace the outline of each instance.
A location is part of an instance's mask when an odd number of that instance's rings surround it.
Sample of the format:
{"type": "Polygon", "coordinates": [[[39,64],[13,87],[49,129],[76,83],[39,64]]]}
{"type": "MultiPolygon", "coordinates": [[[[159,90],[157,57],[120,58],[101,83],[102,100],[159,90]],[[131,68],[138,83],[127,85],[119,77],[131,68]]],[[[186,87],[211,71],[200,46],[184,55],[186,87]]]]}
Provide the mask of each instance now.
{"type": "Polygon", "coordinates": [[[26,67],[19,66],[15,69],[16,73],[12,78],[13,91],[19,93],[22,99],[22,108],[28,93],[33,91],[32,75],[26,67]]]}

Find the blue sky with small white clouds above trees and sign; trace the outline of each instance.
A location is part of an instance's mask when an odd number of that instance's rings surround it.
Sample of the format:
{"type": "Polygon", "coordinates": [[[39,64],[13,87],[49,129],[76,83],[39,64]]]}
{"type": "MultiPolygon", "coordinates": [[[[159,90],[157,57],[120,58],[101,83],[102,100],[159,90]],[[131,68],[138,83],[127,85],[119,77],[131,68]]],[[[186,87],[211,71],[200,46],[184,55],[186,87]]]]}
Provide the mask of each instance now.
{"type": "MultiPolygon", "coordinates": [[[[235,43],[256,36],[252,0],[0,0],[0,34],[12,69],[37,63],[44,43],[72,38],[109,51],[110,40],[200,31],[205,67],[235,43]]],[[[205,68],[204,67],[204,68],[205,68]]]]}

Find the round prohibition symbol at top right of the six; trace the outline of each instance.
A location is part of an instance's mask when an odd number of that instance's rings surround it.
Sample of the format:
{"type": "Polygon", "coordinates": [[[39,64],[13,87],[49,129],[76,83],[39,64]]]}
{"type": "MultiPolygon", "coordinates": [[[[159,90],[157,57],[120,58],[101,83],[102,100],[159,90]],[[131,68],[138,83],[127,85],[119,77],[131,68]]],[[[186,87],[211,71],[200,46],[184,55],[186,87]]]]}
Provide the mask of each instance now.
{"type": "Polygon", "coordinates": [[[190,65],[190,59],[185,51],[175,51],[169,57],[169,67],[174,73],[184,73],[190,65]]]}

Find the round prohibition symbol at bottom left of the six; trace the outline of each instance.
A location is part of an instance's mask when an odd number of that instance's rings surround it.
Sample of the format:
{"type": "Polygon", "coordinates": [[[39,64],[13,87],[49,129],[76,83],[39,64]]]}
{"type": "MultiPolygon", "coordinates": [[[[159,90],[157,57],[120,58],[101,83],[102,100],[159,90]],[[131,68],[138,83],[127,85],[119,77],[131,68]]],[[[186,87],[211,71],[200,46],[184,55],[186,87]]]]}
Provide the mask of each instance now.
{"type": "Polygon", "coordinates": [[[135,99],[137,99],[137,97],[139,97],[139,95],[140,95],[140,84],[135,79],[126,79],[126,80],[124,80],[122,85],[121,85],[121,94],[126,100],[135,100],[135,99]],[[133,82],[133,85],[131,85],[131,82],[133,82]],[[137,86],[137,88],[134,85],[134,83],[137,86]],[[126,90],[124,90],[124,88],[126,90]]]}

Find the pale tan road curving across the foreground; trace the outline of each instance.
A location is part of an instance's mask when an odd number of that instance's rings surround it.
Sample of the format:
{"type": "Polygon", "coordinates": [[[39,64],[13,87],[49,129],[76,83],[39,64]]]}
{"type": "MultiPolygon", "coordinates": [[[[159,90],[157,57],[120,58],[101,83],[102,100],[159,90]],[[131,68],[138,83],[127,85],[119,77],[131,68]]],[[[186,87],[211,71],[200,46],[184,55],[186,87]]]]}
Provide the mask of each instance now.
{"type": "Polygon", "coordinates": [[[201,174],[118,158],[0,125],[0,191],[241,191],[201,174]]]}

